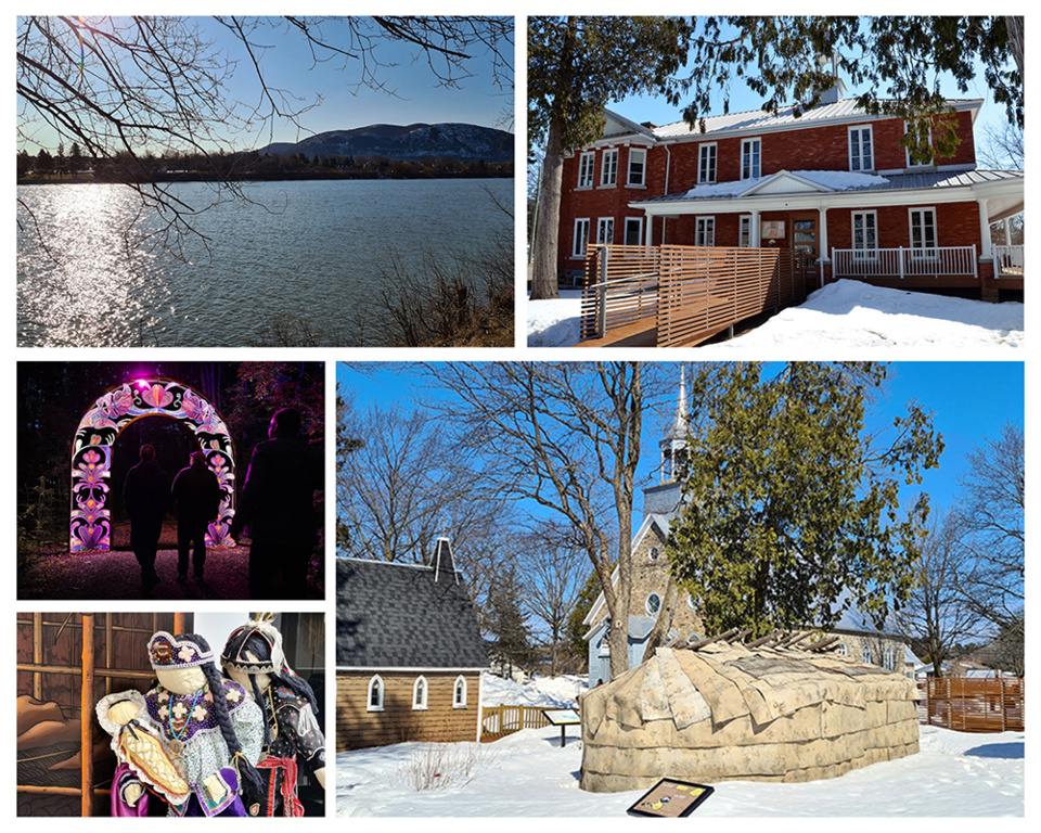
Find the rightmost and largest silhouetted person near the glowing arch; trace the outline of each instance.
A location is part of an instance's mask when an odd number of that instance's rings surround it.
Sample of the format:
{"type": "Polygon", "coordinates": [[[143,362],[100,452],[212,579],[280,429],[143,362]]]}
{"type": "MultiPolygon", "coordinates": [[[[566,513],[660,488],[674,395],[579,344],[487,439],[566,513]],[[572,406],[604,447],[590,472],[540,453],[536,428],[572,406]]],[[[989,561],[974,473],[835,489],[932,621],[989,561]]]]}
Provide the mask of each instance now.
{"type": "Polygon", "coordinates": [[[294,408],[271,418],[268,437],[253,450],[231,537],[248,527],[252,599],[300,599],[317,540],[314,490],[324,486],[322,452],[300,436],[294,408]]]}

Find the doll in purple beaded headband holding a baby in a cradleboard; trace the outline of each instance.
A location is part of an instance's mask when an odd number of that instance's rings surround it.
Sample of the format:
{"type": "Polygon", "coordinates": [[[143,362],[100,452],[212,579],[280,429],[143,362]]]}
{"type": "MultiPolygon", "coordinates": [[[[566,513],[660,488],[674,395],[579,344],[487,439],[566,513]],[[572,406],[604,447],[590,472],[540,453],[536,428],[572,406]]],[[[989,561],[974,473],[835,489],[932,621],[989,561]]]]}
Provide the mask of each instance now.
{"type": "Polygon", "coordinates": [[[144,785],[169,804],[170,816],[245,816],[240,794],[261,790],[254,765],[264,741],[262,713],[241,685],[221,678],[209,644],[197,635],[159,631],[149,641],[149,657],[158,683],[143,705],[138,692],[111,694],[98,704],[120,765],[114,815],[134,815],[144,785]],[[128,702],[138,703],[132,715],[128,702]],[[169,778],[164,759],[179,780],[169,778]],[[117,797],[129,807],[117,811],[117,797]]]}

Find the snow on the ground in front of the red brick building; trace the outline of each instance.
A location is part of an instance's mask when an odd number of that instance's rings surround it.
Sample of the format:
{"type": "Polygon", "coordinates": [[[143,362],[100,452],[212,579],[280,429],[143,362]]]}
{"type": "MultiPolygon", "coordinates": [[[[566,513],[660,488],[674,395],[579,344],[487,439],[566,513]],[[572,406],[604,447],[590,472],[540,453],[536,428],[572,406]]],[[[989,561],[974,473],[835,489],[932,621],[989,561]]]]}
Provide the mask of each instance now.
{"type": "MultiPolygon", "coordinates": [[[[566,291],[560,300],[529,300],[528,345],[577,344],[579,295],[566,291]]],[[[824,356],[845,347],[1023,347],[1023,304],[990,304],[844,280],[710,349],[754,349],[762,355],[775,347],[797,347],[824,356]]]]}

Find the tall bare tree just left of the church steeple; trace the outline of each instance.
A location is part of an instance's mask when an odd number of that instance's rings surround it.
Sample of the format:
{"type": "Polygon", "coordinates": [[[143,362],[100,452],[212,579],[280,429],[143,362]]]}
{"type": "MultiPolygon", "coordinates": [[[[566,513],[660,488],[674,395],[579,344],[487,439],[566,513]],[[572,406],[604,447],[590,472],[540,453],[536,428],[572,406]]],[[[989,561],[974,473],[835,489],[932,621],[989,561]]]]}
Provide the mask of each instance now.
{"type": "Polygon", "coordinates": [[[451,362],[430,371],[455,394],[445,413],[458,425],[460,444],[480,449],[490,462],[487,488],[535,501],[576,530],[612,617],[612,676],[622,674],[629,665],[642,366],[451,362]]]}

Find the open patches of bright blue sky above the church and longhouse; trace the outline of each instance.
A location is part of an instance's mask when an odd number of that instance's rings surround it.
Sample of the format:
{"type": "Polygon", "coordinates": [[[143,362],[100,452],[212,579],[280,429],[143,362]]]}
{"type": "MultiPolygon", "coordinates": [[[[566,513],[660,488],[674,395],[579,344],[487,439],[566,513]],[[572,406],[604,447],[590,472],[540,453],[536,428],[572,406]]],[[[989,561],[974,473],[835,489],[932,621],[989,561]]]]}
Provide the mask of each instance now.
{"type": "MultiPolygon", "coordinates": [[[[412,408],[436,395],[417,387],[408,366],[375,363],[370,367],[375,370],[368,375],[343,364],[337,367],[337,388],[351,388],[358,408],[364,409],[370,403],[412,408]]],[[[679,364],[674,368],[679,380],[679,364]]],[[[930,496],[934,509],[942,510],[954,500],[958,480],[967,471],[965,454],[985,437],[997,437],[1005,423],[1024,424],[1024,366],[1019,361],[896,362],[890,366],[887,394],[878,401],[868,427],[891,424],[894,416],[905,413],[911,399],[934,412],[934,424],[946,443],[939,469],[926,472],[921,486],[921,490],[930,496]]],[[[660,413],[644,420],[641,486],[652,476],[664,422],[670,420],[673,412],[674,396],[663,406],[660,413]]],[[[909,489],[918,490],[920,487],[909,489]]],[[[638,510],[640,507],[638,500],[638,510]]]]}

